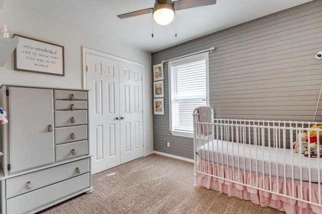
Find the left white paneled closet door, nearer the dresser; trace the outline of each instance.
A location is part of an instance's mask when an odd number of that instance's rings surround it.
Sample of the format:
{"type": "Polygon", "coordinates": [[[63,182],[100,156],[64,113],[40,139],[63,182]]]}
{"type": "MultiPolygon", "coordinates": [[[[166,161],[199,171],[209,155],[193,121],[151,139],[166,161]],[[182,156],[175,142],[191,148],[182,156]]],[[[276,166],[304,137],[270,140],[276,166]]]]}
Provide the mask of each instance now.
{"type": "Polygon", "coordinates": [[[92,173],[120,164],[118,61],[93,54],[86,56],[89,89],[90,152],[92,173]]]}

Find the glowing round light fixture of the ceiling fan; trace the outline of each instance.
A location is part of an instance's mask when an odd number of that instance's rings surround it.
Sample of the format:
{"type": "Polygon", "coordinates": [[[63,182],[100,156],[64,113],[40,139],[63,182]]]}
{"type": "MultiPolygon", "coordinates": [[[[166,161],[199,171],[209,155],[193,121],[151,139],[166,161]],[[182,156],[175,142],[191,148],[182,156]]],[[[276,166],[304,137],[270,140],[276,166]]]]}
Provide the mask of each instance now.
{"type": "Polygon", "coordinates": [[[172,1],[155,1],[153,19],[159,25],[170,24],[175,17],[175,8],[172,1]]]}

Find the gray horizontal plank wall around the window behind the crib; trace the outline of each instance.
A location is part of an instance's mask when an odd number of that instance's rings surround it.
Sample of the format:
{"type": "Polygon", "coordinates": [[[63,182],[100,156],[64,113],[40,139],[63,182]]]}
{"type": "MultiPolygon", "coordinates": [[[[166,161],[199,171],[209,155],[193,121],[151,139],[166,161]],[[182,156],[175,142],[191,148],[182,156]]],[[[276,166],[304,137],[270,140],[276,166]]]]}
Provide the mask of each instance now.
{"type": "MultiPolygon", "coordinates": [[[[153,53],[152,65],[215,47],[209,95],[216,118],[312,121],[322,84],[322,60],[314,58],[322,51],[321,18],[316,0],[153,53]]],[[[193,139],[169,130],[166,63],[164,72],[165,115],[153,115],[154,150],[193,158],[193,139]]],[[[319,105],[315,121],[321,112],[319,105]]]]}

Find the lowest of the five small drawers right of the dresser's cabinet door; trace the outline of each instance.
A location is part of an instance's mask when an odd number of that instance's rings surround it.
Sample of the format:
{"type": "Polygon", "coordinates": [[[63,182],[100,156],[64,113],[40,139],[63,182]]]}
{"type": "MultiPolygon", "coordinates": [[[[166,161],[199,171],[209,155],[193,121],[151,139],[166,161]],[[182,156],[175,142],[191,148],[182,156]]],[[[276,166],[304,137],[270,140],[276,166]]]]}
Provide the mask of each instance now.
{"type": "Polygon", "coordinates": [[[88,141],[78,141],[55,146],[56,161],[88,154],[88,141]]]}

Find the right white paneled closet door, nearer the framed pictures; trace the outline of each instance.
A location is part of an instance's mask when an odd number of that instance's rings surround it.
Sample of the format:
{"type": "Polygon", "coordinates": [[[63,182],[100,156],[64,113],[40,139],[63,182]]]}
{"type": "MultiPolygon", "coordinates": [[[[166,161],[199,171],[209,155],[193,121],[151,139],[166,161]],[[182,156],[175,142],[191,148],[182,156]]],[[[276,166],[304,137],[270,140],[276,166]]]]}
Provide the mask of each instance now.
{"type": "Polygon", "coordinates": [[[120,62],[121,164],[143,156],[142,67],[120,62]]]}

